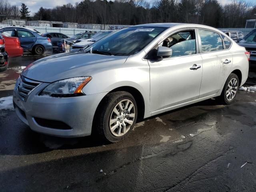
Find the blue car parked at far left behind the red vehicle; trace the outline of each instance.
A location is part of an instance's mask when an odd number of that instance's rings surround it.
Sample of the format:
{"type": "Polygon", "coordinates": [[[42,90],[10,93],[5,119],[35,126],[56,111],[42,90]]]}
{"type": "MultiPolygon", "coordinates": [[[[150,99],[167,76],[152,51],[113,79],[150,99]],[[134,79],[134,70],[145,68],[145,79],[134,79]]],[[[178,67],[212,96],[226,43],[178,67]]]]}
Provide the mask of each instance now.
{"type": "Polygon", "coordinates": [[[5,36],[18,37],[24,51],[30,51],[36,55],[42,55],[45,51],[52,52],[50,38],[42,37],[38,31],[32,28],[7,26],[0,28],[0,33],[5,36]]]}

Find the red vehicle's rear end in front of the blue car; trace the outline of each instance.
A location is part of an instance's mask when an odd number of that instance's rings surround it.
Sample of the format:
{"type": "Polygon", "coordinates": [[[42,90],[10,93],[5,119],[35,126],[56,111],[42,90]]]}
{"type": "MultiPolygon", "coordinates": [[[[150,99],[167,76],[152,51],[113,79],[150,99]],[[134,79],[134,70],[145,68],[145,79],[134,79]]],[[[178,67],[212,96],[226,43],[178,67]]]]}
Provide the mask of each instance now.
{"type": "Polygon", "coordinates": [[[9,57],[22,56],[23,48],[20,46],[20,40],[18,37],[7,37],[4,36],[5,51],[9,57]]]}

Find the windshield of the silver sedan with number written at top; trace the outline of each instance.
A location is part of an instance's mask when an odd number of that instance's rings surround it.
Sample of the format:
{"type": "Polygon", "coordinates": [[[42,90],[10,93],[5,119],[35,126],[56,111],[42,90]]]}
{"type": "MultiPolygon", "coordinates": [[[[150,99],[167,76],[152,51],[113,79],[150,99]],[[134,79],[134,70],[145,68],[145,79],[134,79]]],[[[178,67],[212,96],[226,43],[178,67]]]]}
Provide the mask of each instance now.
{"type": "Polygon", "coordinates": [[[133,55],[164,30],[164,27],[128,27],[102,38],[84,51],[116,56],[133,55]]]}

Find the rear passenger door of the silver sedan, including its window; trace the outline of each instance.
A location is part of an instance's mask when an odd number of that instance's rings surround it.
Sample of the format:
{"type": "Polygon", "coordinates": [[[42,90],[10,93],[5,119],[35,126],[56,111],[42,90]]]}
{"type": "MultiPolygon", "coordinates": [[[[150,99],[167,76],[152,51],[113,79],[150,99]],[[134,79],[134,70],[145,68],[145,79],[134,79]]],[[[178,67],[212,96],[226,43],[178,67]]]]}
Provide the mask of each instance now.
{"type": "Polygon", "coordinates": [[[218,32],[198,29],[203,74],[200,98],[216,94],[230,73],[233,57],[218,32]]]}

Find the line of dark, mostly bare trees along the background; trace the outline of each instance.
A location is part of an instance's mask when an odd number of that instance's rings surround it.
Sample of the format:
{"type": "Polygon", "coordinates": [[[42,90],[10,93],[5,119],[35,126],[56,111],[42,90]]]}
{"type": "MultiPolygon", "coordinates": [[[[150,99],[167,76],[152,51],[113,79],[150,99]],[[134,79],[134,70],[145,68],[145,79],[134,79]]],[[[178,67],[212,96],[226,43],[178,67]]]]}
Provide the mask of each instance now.
{"type": "MultiPolygon", "coordinates": [[[[7,0],[0,0],[0,14],[17,18],[21,13],[7,0]]],[[[242,28],[247,19],[256,18],[254,14],[256,4],[245,0],[232,0],[224,5],[218,0],[156,0],[151,5],[146,0],[83,0],[75,5],[41,7],[30,20],[116,25],[181,22],[242,28]]]]}

